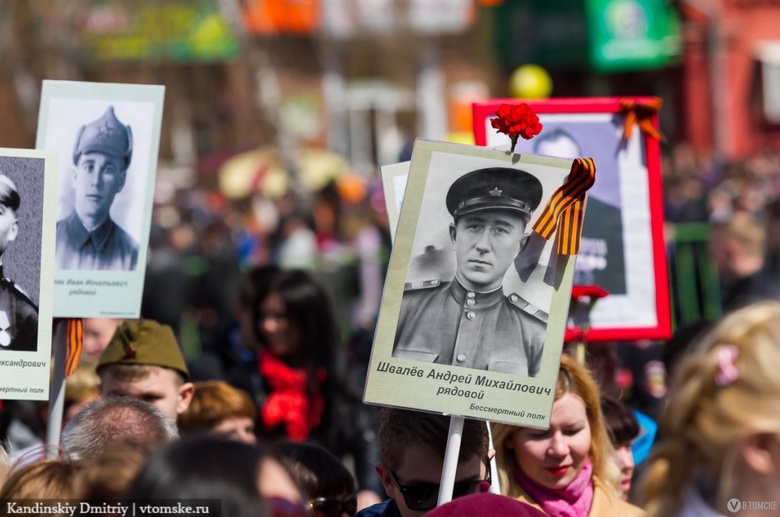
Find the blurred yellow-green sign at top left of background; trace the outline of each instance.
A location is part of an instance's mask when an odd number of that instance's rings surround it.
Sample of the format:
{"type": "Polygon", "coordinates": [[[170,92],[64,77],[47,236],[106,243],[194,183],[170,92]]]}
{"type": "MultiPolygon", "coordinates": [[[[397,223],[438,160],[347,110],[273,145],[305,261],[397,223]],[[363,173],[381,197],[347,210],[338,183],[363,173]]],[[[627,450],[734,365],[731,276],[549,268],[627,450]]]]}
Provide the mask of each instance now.
{"type": "Polygon", "coordinates": [[[213,0],[103,0],[81,20],[91,61],[226,61],[238,43],[213,0]]]}

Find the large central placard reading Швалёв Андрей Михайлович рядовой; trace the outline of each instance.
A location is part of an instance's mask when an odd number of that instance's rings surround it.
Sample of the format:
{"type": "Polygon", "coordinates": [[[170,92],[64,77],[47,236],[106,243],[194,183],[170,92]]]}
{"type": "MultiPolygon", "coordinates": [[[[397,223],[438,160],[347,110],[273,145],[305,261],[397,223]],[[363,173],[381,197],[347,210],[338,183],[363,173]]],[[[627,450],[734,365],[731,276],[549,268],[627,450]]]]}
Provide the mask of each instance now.
{"type": "Polygon", "coordinates": [[[548,425],[575,256],[532,227],[571,170],[422,139],[382,168],[398,223],[365,402],[548,425]]]}

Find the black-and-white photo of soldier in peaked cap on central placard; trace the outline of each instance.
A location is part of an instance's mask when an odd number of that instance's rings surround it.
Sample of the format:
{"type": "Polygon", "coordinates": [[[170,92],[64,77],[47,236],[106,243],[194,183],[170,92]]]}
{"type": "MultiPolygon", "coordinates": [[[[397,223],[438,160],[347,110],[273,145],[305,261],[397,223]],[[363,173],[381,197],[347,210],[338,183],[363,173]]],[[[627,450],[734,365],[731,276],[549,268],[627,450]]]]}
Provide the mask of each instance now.
{"type": "MultiPolygon", "coordinates": [[[[431,161],[392,356],[535,377],[553,288],[521,281],[516,265],[558,185],[538,169],[485,165],[444,153],[431,161]]],[[[549,250],[542,262],[539,279],[549,250]]]]}

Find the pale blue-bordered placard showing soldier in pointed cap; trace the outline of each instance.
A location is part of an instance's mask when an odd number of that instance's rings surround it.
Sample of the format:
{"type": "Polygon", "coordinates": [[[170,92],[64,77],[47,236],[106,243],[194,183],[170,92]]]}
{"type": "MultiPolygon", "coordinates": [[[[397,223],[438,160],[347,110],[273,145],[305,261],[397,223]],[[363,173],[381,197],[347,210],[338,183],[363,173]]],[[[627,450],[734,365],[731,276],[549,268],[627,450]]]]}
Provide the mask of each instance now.
{"type": "Polygon", "coordinates": [[[36,147],[59,156],[55,317],[140,315],[164,93],[43,82],[36,147]]]}

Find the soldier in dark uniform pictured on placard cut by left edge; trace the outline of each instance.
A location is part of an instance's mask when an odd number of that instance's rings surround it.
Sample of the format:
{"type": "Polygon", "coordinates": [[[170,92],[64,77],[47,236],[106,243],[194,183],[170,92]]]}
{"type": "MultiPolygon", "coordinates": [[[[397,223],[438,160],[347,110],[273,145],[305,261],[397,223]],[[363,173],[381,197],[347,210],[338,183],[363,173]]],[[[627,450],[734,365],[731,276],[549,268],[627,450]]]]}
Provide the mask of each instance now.
{"type": "Polygon", "coordinates": [[[19,192],[0,173],[0,350],[35,351],[38,348],[38,307],[14,282],[5,277],[3,256],[19,233],[16,213],[19,192]]]}

